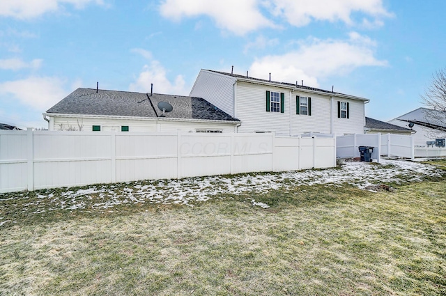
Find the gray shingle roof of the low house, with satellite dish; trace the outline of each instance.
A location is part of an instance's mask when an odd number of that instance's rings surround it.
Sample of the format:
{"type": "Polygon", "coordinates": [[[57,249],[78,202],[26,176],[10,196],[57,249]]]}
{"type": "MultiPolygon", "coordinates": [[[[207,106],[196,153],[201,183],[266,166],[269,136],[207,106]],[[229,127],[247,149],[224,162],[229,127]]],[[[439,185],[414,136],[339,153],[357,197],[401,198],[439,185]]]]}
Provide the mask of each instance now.
{"type": "Polygon", "coordinates": [[[66,98],[48,109],[47,114],[82,114],[157,118],[162,111],[158,102],[169,102],[174,110],[165,118],[239,121],[202,98],[158,93],[132,93],[77,88],[66,98]]]}

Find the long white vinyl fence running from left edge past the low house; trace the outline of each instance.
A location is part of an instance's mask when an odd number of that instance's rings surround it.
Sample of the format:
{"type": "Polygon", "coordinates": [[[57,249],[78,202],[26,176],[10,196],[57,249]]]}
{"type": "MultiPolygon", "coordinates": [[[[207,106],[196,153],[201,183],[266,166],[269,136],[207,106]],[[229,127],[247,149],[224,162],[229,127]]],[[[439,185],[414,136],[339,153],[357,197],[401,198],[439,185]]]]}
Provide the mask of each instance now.
{"type": "Polygon", "coordinates": [[[274,134],[0,132],[0,192],[336,165],[336,139],[274,134]]]}

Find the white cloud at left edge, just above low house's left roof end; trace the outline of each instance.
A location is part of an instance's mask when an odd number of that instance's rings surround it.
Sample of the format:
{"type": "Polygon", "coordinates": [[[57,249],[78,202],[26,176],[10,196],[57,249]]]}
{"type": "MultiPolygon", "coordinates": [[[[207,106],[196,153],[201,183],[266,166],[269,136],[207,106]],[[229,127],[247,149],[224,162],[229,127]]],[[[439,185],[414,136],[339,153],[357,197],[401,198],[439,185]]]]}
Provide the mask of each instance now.
{"type": "Polygon", "coordinates": [[[64,84],[57,77],[29,77],[1,83],[0,94],[12,95],[20,103],[44,112],[66,97],[64,84]]]}

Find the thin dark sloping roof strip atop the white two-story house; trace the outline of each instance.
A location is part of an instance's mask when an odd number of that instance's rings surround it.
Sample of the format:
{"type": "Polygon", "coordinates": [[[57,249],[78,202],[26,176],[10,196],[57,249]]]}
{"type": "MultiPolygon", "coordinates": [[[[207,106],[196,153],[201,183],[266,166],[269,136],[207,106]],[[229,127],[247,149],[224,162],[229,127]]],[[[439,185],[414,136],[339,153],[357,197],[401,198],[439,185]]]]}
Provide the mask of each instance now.
{"type": "Polygon", "coordinates": [[[360,98],[360,97],[356,97],[354,95],[346,95],[345,93],[336,93],[333,91],[327,91],[322,88],[314,88],[311,86],[302,86],[297,83],[291,84],[288,82],[272,81],[272,80],[249,77],[247,75],[238,75],[238,74],[220,72],[220,71],[215,71],[215,70],[205,70],[205,71],[214,72],[214,73],[217,73],[220,75],[234,77],[239,81],[247,81],[247,82],[253,82],[253,83],[258,83],[258,84],[273,84],[273,85],[279,86],[279,87],[282,86],[282,87],[286,87],[286,88],[293,88],[293,90],[295,90],[295,91],[309,91],[309,92],[316,92],[316,93],[325,93],[327,95],[332,95],[334,97],[338,96],[338,97],[344,97],[344,98],[351,98],[353,100],[369,101],[369,99],[366,99],[366,98],[360,98]]]}

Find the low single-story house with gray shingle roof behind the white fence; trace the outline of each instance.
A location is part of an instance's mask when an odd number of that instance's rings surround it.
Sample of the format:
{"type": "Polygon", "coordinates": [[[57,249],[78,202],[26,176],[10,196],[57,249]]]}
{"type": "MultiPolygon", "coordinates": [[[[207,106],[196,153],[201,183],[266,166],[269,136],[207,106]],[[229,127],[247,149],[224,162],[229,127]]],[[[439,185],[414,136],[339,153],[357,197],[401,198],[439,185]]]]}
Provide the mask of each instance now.
{"type": "Polygon", "coordinates": [[[77,88],[43,114],[48,130],[235,132],[240,120],[202,98],[77,88]],[[173,111],[158,109],[168,102],[173,111]]]}

